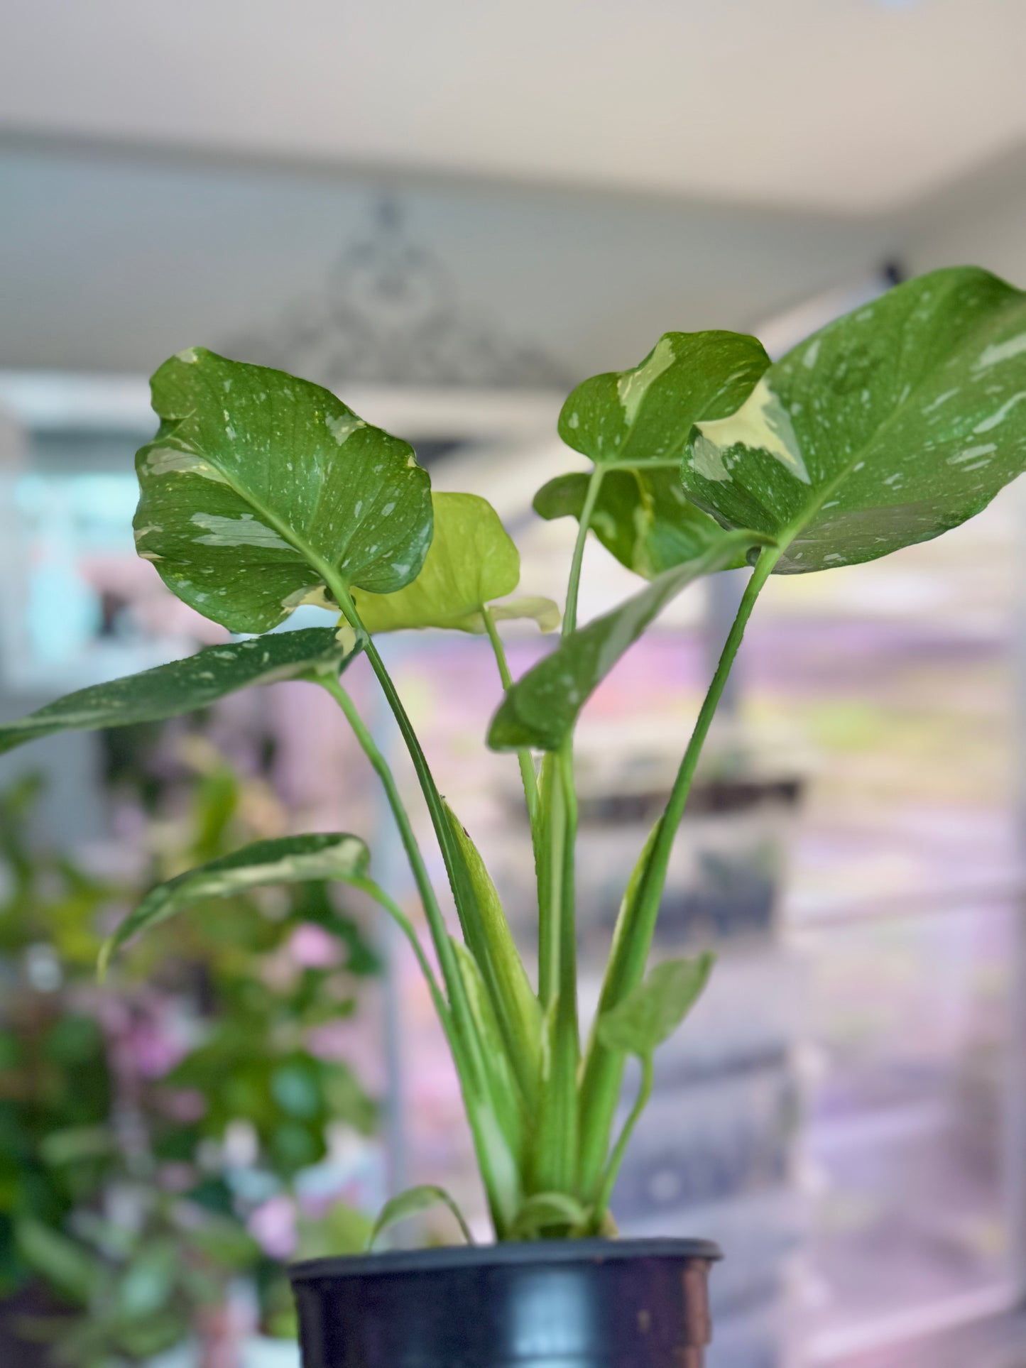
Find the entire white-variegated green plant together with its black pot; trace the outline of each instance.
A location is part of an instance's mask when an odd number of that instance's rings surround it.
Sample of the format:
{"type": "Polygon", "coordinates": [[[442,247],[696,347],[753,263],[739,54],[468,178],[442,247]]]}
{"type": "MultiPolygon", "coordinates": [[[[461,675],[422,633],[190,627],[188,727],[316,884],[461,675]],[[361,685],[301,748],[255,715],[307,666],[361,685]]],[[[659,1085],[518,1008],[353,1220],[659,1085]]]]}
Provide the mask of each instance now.
{"type": "MultiPolygon", "coordinates": [[[[306,1368],[602,1363],[688,1365],[709,1338],[700,1241],[614,1241],[609,1201],[709,953],[647,973],[674,833],[748,617],[772,573],[874,560],[979,512],[1026,464],[1026,295],[985,271],[902,285],[770,364],[732,332],[669,332],[640,363],[580,384],[560,417],[591,461],[535,499],[579,529],[562,635],[516,683],[499,624],[554,622],[509,599],[518,555],[490,505],[432,494],[413,450],[335,395],[202,349],[153,376],[156,438],[137,457],[140,555],[186,603],[246,640],[83,689],[0,729],[0,747],[66,728],[161,718],[234,689],[305,679],[328,691],[398,824],[434,963],[369,870],[360,837],[257,841],[153,889],[104,960],[190,904],[271,882],[339,880],[395,919],[427,978],[462,1086],[498,1244],[368,1254],[293,1270],[306,1368]],[[577,624],[588,532],[647,583],[577,624]],[[751,575],[673,781],[624,892],[598,1016],[577,1022],[573,729],[599,680],[659,610],[705,575],[751,575]],[[337,628],[275,633],[300,603],[337,628]],[[378,651],[382,632],[477,632],[505,689],[487,741],[518,761],[538,886],[538,982],[461,819],[442,798],[378,651]],[[458,914],[450,933],[393,772],[342,684],[365,655],[413,761],[458,914]],[[540,755],[540,763],[538,757],[540,755]],[[640,1090],[618,1134],[628,1056],[640,1090]]],[[[394,1198],[387,1224],[447,1202],[394,1198]]],[[[457,1213],[458,1216],[458,1213],[457,1213]]]]}

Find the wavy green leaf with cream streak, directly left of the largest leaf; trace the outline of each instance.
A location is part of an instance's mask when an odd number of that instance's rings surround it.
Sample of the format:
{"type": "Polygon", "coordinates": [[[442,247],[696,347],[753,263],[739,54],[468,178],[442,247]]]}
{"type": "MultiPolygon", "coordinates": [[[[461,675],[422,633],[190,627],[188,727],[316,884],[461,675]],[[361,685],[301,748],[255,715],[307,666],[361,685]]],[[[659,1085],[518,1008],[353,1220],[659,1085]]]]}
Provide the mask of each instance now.
{"type": "Polygon", "coordinates": [[[733,413],[767,365],[739,332],[666,332],[640,365],[579,384],[560,436],[596,465],[676,460],[692,424],[733,413]]]}

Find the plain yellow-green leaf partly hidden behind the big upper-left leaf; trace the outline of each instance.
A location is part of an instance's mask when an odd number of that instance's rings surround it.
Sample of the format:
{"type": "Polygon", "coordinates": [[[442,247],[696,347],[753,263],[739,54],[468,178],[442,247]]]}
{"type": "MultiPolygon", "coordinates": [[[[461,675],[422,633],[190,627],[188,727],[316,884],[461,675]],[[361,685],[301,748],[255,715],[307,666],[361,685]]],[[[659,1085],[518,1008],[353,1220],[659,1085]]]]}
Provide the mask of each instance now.
{"type": "MultiPolygon", "coordinates": [[[[487,499],[476,494],[432,494],[435,532],[417,577],[394,594],[354,591],[353,601],[368,632],[440,627],[483,632],[482,609],[512,594],[520,580],[520,553],[487,499]]],[[[497,609],[499,616],[503,605],[497,609]]],[[[534,617],[544,627],[549,599],[505,605],[501,616],[534,617]]]]}

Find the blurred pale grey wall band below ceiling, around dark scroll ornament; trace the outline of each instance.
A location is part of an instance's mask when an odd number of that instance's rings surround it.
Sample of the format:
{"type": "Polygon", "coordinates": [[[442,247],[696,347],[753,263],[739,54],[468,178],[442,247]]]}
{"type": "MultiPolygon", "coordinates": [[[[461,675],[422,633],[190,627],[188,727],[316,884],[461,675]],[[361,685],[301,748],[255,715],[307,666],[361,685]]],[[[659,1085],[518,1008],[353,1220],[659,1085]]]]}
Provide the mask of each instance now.
{"type": "MultiPolygon", "coordinates": [[[[876,268],[871,222],[393,182],[464,312],[572,379],[668,328],[746,328],[876,268]]],[[[179,347],[272,327],[323,297],[380,183],[246,164],[0,153],[0,367],[148,373],[179,347]]]]}

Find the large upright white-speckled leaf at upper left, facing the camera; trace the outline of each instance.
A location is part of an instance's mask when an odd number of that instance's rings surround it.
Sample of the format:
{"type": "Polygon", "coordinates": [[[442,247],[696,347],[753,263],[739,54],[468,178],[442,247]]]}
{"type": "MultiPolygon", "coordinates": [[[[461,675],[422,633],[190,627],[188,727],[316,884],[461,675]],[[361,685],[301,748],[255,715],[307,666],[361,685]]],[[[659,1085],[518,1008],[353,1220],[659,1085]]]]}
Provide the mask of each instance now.
{"type": "Polygon", "coordinates": [[[265,632],[328,576],[390,594],[431,543],[413,449],[328,390],[190,347],[152,379],[160,430],[135,457],[135,546],[234,632],[265,632]]]}

